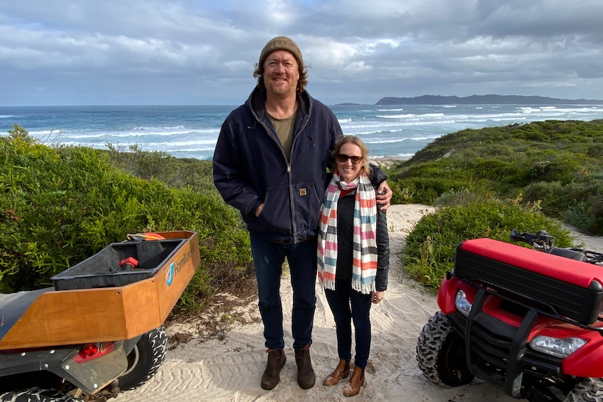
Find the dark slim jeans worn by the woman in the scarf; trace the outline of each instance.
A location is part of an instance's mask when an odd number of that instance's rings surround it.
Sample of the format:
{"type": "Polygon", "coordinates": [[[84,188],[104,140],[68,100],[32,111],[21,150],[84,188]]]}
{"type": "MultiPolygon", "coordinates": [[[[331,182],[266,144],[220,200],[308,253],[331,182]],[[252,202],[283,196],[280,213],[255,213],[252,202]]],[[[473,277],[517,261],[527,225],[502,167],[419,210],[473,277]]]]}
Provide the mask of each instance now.
{"type": "Polygon", "coordinates": [[[352,321],[354,322],[356,355],[354,363],[367,366],[371,351],[371,295],[352,289],[351,280],[336,280],[335,290],[325,289],[327,302],[335,319],[339,359],[352,358],[352,321]]]}

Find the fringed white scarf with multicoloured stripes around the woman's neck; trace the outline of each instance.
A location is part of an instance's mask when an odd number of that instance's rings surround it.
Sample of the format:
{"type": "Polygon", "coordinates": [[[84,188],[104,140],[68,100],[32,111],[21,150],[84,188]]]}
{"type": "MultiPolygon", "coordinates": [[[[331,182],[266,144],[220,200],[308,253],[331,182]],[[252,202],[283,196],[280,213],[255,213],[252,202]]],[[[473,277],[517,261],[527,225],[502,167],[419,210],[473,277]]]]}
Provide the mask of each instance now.
{"type": "Polygon", "coordinates": [[[377,273],[377,206],[371,180],[362,172],[351,183],[334,171],[320,206],[318,223],[318,280],[325,289],[335,289],[337,266],[337,201],[341,190],[357,188],[354,203],[352,289],[363,294],[375,290],[377,273]]]}

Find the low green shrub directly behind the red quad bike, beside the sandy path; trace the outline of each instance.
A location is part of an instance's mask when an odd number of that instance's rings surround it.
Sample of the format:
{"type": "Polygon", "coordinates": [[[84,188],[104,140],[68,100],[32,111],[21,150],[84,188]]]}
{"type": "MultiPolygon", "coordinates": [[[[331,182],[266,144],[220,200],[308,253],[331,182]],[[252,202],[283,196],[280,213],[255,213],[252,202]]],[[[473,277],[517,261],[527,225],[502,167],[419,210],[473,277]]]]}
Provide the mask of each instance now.
{"type": "Polygon", "coordinates": [[[544,229],[555,237],[558,247],[571,245],[569,232],[537,208],[526,210],[518,203],[499,200],[444,206],[422,217],[406,237],[404,271],[421,285],[437,290],[446,272],[453,269],[458,243],[483,237],[510,243],[512,229],[534,234],[544,229]]]}

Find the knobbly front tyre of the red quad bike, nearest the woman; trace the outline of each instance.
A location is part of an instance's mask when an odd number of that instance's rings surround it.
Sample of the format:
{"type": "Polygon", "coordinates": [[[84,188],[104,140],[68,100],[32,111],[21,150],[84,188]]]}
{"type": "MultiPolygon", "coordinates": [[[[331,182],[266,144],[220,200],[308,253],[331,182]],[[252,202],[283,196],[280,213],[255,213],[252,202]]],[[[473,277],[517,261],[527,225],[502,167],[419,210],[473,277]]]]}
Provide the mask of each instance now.
{"type": "Polygon", "coordinates": [[[467,367],[464,341],[452,331],[441,311],[423,326],[417,342],[417,362],[425,377],[442,387],[458,387],[474,379],[467,367]]]}

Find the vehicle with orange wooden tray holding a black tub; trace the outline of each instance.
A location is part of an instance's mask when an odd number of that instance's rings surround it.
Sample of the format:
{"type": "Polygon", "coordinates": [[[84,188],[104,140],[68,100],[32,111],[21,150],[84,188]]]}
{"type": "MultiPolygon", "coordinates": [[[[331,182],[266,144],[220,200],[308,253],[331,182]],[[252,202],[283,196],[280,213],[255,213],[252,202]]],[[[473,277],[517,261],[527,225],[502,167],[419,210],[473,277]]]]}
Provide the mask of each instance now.
{"type": "Polygon", "coordinates": [[[192,231],[128,235],[50,278],[0,294],[0,401],[104,402],[147,382],[164,321],[199,266],[192,231]]]}

